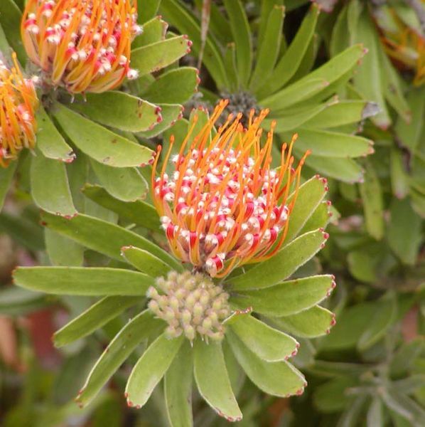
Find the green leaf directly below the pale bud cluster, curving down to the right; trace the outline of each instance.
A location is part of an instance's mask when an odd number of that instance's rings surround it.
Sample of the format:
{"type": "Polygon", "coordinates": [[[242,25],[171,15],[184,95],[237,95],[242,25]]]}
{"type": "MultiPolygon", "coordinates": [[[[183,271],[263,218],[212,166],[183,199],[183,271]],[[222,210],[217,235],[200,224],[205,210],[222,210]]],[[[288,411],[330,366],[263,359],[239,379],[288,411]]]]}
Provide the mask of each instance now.
{"type": "Polygon", "coordinates": [[[242,420],[223,357],[221,343],[195,340],[193,372],[203,399],[227,421],[242,420]]]}

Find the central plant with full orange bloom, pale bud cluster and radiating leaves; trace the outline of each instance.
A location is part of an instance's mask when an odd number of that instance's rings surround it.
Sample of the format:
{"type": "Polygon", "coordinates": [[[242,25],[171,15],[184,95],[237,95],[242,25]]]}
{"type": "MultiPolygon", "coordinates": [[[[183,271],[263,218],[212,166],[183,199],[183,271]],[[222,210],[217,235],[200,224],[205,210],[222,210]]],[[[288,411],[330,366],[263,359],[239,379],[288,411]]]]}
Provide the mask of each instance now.
{"type": "Polygon", "coordinates": [[[154,206],[86,186],[85,194],[119,213],[122,225],[134,221],[134,231],[85,214],[42,215],[47,228],[119,263],[14,273],[23,288],[102,296],[55,333],[59,347],[112,319],[121,323],[77,396],[82,406],[134,353],[127,404],[144,406],[163,379],[173,426],[193,424],[193,377],[200,396],[228,421],[242,419],[235,394],[245,375],[274,396],[302,394],[307,385],[288,362],[298,351],[296,337],[326,334],[335,323],[319,305],[335,287],[333,275],[298,270],[328,238],[326,179],[301,184],[308,152],[296,164],[296,137],[282,147],[280,167],[271,168],[274,124],[267,135],[261,127],[267,110],[252,111],[245,127],[242,115],[230,115],[216,130],[226,106],[220,102],[208,120],[194,113],[185,137],[171,137],[165,156],[158,149],[154,206]],[[127,309],[133,317],[123,322],[127,309]]]}

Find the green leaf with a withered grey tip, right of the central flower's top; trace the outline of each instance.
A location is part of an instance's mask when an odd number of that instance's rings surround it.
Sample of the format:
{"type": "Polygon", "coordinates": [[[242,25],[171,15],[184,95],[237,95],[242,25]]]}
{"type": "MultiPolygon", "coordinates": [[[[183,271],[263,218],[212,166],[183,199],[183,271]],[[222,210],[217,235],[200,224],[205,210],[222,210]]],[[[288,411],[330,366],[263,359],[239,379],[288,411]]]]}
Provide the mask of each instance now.
{"type": "Polygon", "coordinates": [[[361,122],[379,111],[375,102],[342,100],[329,105],[303,124],[303,127],[325,129],[361,122]]]}

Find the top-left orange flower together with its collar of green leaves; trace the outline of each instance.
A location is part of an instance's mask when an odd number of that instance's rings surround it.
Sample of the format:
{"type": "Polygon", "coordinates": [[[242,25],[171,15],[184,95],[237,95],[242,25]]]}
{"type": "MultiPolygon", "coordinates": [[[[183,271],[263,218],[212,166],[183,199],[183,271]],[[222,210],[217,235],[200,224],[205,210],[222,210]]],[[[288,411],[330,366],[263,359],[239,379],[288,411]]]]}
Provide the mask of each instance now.
{"type": "Polygon", "coordinates": [[[85,182],[124,201],[146,196],[149,138],[181,117],[198,85],[195,68],[178,67],[187,36],[167,33],[155,14],[135,0],[31,0],[22,13],[1,1],[1,50],[7,58],[14,48],[36,75],[40,103],[31,153],[0,170],[0,206],[17,176],[38,207],[63,216],[85,211],[85,182]],[[20,31],[9,24],[18,21],[20,31]]]}

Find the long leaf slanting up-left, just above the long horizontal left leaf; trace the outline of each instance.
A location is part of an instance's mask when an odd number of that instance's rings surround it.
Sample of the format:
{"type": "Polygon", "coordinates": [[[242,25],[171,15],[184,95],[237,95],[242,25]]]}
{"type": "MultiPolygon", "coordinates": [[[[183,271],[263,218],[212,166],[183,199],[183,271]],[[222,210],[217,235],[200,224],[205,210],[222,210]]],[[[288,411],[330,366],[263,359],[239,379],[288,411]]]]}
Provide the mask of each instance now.
{"type": "Polygon", "coordinates": [[[180,268],[178,261],[154,243],[107,221],[82,214],[77,214],[71,219],[42,214],[42,218],[45,226],[72,238],[86,248],[104,253],[116,260],[122,261],[123,246],[133,245],[156,255],[173,268],[180,268]]]}

